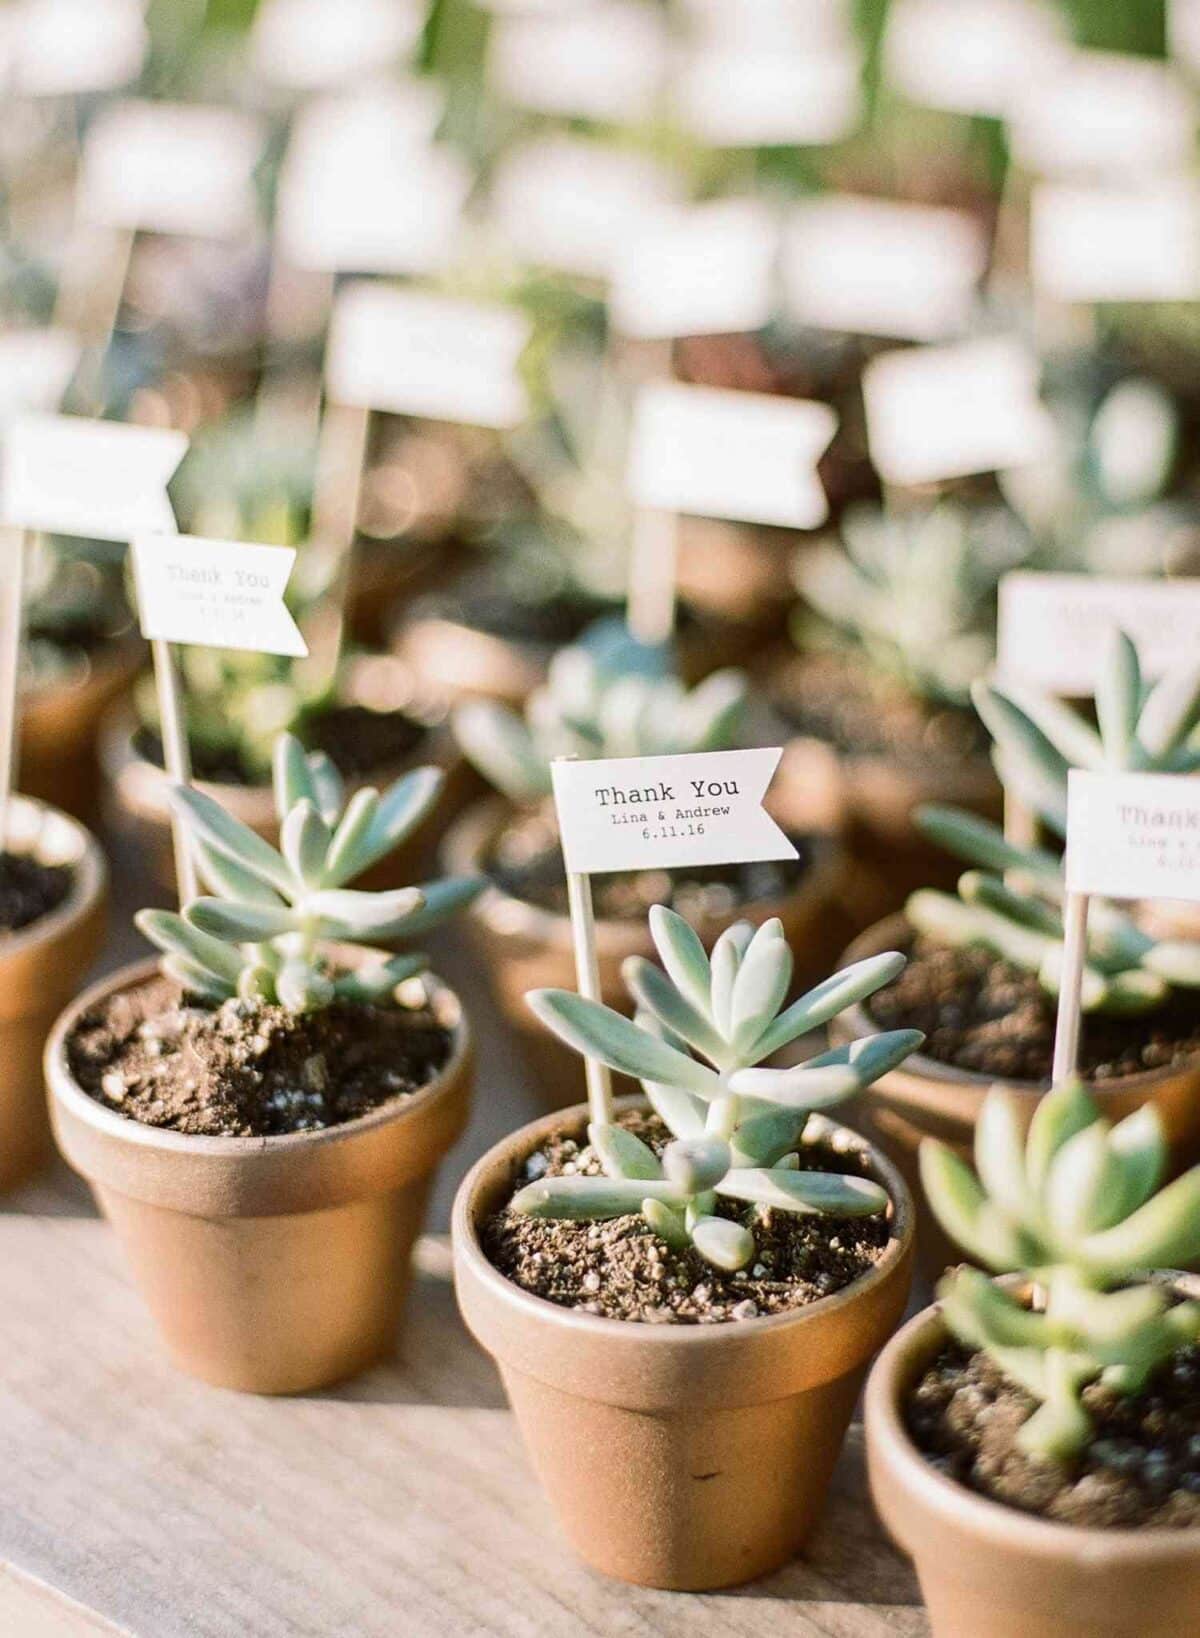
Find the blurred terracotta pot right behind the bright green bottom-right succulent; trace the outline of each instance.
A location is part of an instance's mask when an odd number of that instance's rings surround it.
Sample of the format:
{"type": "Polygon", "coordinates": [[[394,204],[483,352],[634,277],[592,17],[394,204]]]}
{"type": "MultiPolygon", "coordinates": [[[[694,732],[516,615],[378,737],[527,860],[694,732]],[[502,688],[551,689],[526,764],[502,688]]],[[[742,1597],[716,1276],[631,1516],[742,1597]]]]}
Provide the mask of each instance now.
{"type": "MultiPolygon", "coordinates": [[[[850,945],[841,965],[881,950],[904,950],[910,939],[912,930],[904,916],[889,916],[850,945]]],[[[855,1006],[833,1020],[830,1034],[835,1040],[853,1040],[877,1029],[866,1007],[855,1006]]],[[[892,1156],[917,1197],[920,1265],[930,1278],[936,1278],[948,1263],[961,1261],[963,1251],[941,1233],[928,1210],[917,1171],[917,1150],[922,1138],[936,1137],[969,1160],[976,1120],[995,1079],[956,1070],[915,1052],[902,1068],[884,1075],[863,1093],[859,1101],[861,1115],[856,1124],[892,1156]]],[[[1022,1122],[1028,1127],[1049,1079],[1038,1084],[1004,1084],[1017,1094],[1022,1122]]],[[[1120,1120],[1135,1109],[1153,1104],[1167,1133],[1172,1171],[1182,1171],[1200,1156],[1200,1057],[1184,1070],[1149,1070],[1144,1075],[1084,1084],[1108,1120],[1120,1120]]]]}

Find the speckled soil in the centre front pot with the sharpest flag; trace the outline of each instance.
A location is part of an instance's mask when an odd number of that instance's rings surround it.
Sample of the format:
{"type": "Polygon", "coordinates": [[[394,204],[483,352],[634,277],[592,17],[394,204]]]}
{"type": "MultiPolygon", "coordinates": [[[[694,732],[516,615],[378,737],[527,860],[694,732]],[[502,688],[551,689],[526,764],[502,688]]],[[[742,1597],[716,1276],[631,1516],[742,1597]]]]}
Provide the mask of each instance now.
{"type": "MultiPolygon", "coordinates": [[[[661,1150],[671,1133],[653,1114],[620,1114],[620,1125],[661,1150]]],[[[809,1171],[869,1176],[853,1138],[801,1145],[809,1171]]],[[[555,1135],[512,1179],[512,1192],[537,1178],[598,1176],[602,1168],[583,1129],[555,1135]]],[[[565,1309],[617,1320],[712,1325],[783,1314],[841,1291],[881,1261],[891,1228],[877,1217],[815,1217],[719,1201],[717,1212],[745,1224],[758,1256],[735,1274],[688,1248],[673,1251],[638,1215],[611,1222],[550,1222],[504,1206],[483,1225],[488,1260],[524,1291],[565,1309]]]]}

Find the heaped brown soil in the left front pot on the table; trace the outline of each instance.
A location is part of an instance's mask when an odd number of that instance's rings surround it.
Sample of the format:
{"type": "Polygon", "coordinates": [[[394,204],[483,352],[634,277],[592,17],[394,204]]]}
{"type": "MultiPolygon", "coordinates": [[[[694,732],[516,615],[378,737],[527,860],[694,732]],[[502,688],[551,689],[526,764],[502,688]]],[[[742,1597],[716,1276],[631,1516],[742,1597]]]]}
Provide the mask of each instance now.
{"type": "Polygon", "coordinates": [[[277,1137],[342,1125],[419,1093],[450,1047],[450,1030],[424,1006],[206,1007],[154,978],[85,1012],[67,1060],[88,1096],[142,1125],[277,1137]]]}

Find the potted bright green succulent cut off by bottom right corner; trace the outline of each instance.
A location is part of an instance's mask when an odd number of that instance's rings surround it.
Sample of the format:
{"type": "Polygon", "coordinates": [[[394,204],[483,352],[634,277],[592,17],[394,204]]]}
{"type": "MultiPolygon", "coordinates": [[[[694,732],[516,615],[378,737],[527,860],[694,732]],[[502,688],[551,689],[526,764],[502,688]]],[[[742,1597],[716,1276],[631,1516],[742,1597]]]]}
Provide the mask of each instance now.
{"type": "Polygon", "coordinates": [[[1023,1133],[995,1089],[979,1178],[922,1147],[977,1268],[900,1330],[866,1391],[871,1492],[933,1638],[1177,1638],[1200,1599],[1200,1168],[1156,1194],[1153,1109],[1066,1083],[1023,1133]],[[1148,1273],[1149,1271],[1149,1273],[1148,1273]]]}

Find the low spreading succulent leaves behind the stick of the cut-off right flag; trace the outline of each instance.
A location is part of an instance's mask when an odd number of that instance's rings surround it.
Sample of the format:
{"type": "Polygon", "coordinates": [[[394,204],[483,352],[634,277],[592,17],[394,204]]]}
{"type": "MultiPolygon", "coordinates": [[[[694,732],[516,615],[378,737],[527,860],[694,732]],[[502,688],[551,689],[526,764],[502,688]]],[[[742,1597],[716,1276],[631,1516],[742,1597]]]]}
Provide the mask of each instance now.
{"type": "MultiPolygon", "coordinates": [[[[1058,994],[1062,971],[1062,860],[1007,842],[999,826],[956,808],[914,812],[922,835],[976,867],[958,880],[958,896],[922,888],[904,907],[917,932],[938,943],[992,950],[1036,973],[1058,994]]],[[[1153,939],[1125,911],[1092,899],[1087,921],[1085,1012],[1151,1012],[1172,988],[1200,986],[1200,943],[1153,939]]]]}

